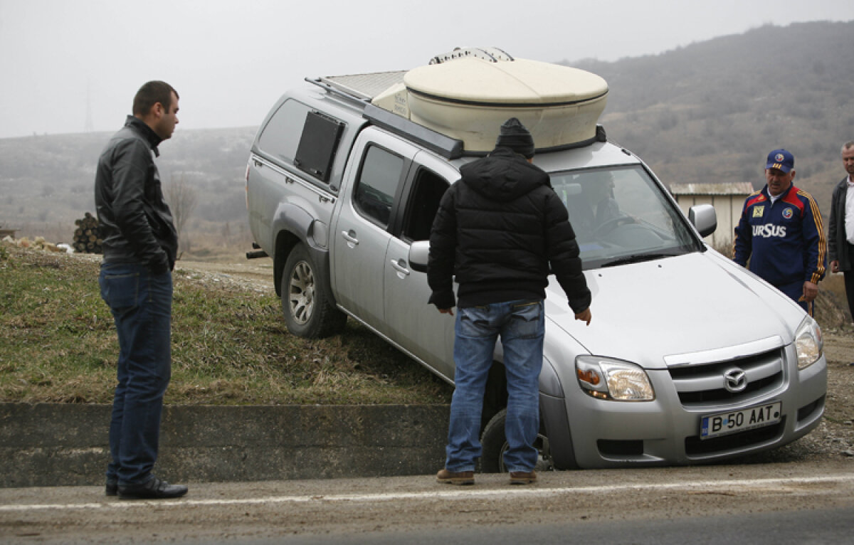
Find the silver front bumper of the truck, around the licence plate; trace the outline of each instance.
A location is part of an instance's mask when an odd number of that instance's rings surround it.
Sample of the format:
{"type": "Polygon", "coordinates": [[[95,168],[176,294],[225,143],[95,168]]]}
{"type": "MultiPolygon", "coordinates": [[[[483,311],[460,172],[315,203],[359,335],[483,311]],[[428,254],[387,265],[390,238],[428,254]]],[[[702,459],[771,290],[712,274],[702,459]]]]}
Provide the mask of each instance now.
{"type": "Polygon", "coordinates": [[[654,401],[602,401],[584,393],[574,376],[562,373],[565,397],[541,396],[555,466],[697,464],[737,458],[793,442],[821,421],[827,392],[827,360],[822,355],[799,371],[792,345],[781,349],[780,357],[780,384],[738,401],[686,403],[680,398],[668,369],[647,370],[656,393],[654,401]],[[779,423],[700,439],[703,416],[770,401],[782,403],[779,423]]]}

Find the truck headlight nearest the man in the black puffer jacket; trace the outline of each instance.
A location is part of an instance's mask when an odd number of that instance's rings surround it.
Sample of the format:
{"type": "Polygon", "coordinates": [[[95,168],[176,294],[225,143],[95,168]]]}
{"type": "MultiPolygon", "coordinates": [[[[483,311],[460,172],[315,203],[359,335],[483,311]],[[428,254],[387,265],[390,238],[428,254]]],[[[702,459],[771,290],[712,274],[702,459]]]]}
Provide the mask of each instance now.
{"type": "Polygon", "coordinates": [[[576,377],[582,390],[596,399],[652,401],[655,392],[646,371],[628,361],[593,355],[576,358],[576,377]]]}

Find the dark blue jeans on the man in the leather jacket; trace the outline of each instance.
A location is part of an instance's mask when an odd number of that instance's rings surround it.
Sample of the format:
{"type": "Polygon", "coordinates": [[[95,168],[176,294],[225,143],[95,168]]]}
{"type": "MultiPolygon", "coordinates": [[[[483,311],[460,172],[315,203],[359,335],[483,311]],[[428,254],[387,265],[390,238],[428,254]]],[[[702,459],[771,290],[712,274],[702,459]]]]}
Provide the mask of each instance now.
{"type": "Polygon", "coordinates": [[[163,395],[172,372],[172,273],[102,263],[98,284],[119,335],[107,480],[145,483],[157,460],[163,395]]]}

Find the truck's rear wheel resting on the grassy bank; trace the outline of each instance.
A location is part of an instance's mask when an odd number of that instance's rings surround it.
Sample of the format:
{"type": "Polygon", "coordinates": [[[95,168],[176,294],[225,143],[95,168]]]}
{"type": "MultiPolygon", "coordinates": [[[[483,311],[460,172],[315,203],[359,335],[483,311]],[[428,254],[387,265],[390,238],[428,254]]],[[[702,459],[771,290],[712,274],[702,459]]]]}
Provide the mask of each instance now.
{"type": "Polygon", "coordinates": [[[342,331],[347,314],[335,306],[305,246],[291,250],[282,271],[282,314],[297,337],[329,337],[342,331]]]}

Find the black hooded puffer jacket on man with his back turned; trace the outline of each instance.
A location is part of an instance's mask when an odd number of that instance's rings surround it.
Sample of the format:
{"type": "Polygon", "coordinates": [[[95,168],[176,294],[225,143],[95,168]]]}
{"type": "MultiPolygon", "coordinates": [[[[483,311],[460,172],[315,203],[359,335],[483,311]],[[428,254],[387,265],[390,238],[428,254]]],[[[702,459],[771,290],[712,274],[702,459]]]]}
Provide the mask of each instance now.
{"type": "Polygon", "coordinates": [[[590,306],[578,244],[547,173],[507,148],[460,169],[430,233],[427,279],[437,308],[546,296],[549,263],[570,307],[590,306]]]}

